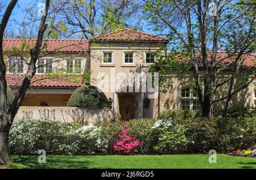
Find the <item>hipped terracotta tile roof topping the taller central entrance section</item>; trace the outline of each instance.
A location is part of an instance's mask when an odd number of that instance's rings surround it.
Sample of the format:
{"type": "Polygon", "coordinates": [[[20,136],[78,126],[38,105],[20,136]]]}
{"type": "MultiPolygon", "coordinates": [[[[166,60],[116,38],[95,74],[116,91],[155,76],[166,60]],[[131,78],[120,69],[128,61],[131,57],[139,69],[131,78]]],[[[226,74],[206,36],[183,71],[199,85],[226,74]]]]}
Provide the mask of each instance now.
{"type": "Polygon", "coordinates": [[[92,38],[92,41],[168,41],[168,38],[155,36],[133,29],[122,29],[92,38]]]}

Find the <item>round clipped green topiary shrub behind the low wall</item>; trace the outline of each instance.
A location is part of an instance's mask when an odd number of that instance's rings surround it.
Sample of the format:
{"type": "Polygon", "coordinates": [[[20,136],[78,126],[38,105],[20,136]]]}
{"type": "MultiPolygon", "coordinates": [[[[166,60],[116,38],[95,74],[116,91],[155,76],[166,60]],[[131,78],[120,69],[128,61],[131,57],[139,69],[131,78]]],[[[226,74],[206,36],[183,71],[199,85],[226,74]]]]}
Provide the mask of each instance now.
{"type": "Polygon", "coordinates": [[[73,92],[69,98],[67,106],[79,108],[103,108],[108,107],[108,98],[97,87],[80,87],[73,92]]]}

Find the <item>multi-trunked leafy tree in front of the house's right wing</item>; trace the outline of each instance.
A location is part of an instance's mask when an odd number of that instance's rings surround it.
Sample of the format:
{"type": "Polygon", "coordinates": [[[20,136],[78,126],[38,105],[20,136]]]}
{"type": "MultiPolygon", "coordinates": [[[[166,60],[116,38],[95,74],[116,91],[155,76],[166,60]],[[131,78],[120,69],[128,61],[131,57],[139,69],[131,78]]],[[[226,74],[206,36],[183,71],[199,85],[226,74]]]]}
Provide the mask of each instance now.
{"type": "Polygon", "coordinates": [[[254,68],[243,66],[256,49],[255,7],[255,0],[145,0],[144,14],[154,30],[170,37],[171,54],[160,57],[151,70],[165,76],[192,70],[202,115],[210,117],[212,105],[223,100],[225,114],[232,96],[256,77],[254,68]],[[218,50],[225,50],[225,57],[217,59],[218,50]],[[234,61],[225,63],[230,57],[234,61]],[[229,77],[221,79],[227,70],[229,77]],[[228,92],[216,98],[224,85],[228,92]]]}

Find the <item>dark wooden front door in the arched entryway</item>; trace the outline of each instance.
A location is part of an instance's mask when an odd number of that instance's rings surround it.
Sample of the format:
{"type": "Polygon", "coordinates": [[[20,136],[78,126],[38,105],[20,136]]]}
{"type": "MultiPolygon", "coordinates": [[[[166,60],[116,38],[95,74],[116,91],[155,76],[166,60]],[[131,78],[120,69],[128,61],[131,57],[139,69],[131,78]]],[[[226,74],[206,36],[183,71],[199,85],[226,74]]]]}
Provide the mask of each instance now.
{"type": "Polygon", "coordinates": [[[134,118],[134,96],[121,95],[119,97],[119,112],[121,119],[128,121],[134,118]]]}

